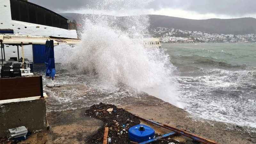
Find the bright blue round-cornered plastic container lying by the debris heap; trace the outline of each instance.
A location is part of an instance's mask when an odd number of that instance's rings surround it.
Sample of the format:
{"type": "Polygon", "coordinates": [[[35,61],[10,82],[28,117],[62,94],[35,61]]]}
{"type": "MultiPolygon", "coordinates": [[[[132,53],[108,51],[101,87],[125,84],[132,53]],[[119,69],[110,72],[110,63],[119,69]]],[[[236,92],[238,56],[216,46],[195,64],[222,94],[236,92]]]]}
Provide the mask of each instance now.
{"type": "Polygon", "coordinates": [[[134,142],[143,142],[153,139],[155,130],[147,125],[135,125],[129,129],[129,138],[134,142]]]}

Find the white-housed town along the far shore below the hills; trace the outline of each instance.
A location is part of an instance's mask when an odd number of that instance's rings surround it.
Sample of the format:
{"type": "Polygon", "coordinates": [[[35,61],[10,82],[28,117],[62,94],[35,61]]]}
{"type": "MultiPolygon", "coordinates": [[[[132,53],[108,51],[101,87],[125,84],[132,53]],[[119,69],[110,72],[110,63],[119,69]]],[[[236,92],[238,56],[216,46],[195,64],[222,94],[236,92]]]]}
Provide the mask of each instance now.
{"type": "Polygon", "coordinates": [[[151,34],[162,43],[247,43],[256,42],[256,34],[210,34],[170,28],[151,28],[151,34]]]}

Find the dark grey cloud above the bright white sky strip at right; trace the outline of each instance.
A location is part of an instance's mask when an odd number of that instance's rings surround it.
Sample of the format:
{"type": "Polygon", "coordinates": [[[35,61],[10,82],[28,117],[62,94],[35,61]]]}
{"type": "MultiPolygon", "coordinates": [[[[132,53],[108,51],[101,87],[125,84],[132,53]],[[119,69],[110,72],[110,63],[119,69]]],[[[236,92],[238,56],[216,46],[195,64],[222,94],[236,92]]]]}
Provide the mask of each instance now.
{"type": "Polygon", "coordinates": [[[148,8],[177,8],[200,14],[245,15],[256,13],[256,0],[154,0],[148,8]]]}

